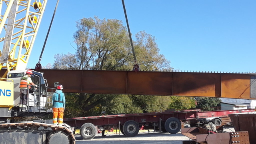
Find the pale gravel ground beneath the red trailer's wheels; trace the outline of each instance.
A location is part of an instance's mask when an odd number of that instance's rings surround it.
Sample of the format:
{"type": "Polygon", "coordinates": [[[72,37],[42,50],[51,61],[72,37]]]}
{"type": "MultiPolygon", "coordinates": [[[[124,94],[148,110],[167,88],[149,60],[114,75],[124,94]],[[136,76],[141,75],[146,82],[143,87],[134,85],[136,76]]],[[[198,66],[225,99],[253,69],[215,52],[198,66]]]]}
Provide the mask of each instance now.
{"type": "MultiPolygon", "coordinates": [[[[225,127],[225,131],[234,131],[232,127],[225,127]]],[[[178,132],[177,134],[160,133],[160,132],[143,132],[139,133],[135,137],[126,137],[120,133],[105,134],[106,137],[102,137],[101,134],[96,134],[92,140],[83,140],[81,136],[76,136],[76,144],[182,144],[182,141],[189,140],[188,137],[178,132]]]]}

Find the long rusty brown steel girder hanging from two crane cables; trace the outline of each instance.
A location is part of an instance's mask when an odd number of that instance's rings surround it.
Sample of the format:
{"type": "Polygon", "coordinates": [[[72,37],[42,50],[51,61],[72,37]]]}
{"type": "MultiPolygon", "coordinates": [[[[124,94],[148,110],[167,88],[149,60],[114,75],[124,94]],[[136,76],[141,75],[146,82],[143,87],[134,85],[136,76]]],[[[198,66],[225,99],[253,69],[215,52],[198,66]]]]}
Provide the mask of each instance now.
{"type": "MultiPolygon", "coordinates": [[[[3,70],[1,70],[2,72],[3,70]]],[[[254,74],[199,72],[132,72],[97,70],[40,70],[53,88],[64,92],[256,98],[254,74]]]]}

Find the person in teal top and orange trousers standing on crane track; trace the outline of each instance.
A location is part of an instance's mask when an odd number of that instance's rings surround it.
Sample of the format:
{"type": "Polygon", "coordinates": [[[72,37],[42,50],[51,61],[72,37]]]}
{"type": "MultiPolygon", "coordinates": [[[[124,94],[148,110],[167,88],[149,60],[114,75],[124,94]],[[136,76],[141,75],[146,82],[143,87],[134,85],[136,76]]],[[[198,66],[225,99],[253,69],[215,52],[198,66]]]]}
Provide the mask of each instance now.
{"type": "Polygon", "coordinates": [[[53,108],[53,124],[62,125],[63,123],[63,115],[65,110],[65,95],[62,92],[62,85],[57,86],[57,90],[54,92],[52,96],[52,108],[53,108]]]}

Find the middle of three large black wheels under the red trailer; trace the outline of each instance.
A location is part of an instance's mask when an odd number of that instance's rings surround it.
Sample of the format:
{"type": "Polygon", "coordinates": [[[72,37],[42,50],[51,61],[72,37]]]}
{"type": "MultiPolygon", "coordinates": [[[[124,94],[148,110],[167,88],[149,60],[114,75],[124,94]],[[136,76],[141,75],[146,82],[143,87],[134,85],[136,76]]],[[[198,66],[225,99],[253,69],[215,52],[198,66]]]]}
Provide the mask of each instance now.
{"type": "Polygon", "coordinates": [[[134,120],[129,120],[124,123],[123,131],[128,137],[136,136],[139,133],[139,125],[134,120]]]}

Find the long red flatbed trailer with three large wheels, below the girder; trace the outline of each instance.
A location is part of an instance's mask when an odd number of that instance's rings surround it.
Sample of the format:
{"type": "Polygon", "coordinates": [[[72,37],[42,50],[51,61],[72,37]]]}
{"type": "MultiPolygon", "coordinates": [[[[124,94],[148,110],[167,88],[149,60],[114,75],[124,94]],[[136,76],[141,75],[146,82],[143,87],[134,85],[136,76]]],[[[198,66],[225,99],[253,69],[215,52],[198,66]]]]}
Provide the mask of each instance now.
{"type": "Polygon", "coordinates": [[[250,112],[246,110],[220,110],[201,112],[200,110],[181,110],[165,112],[148,112],[139,114],[115,114],[108,116],[88,116],[65,118],[64,123],[73,128],[80,128],[80,135],[86,140],[94,138],[98,130],[119,129],[122,134],[136,136],[143,126],[144,129],[159,128],[160,132],[176,134],[180,131],[181,122],[197,122],[198,119],[212,118],[212,122],[228,114],[250,112]]]}

